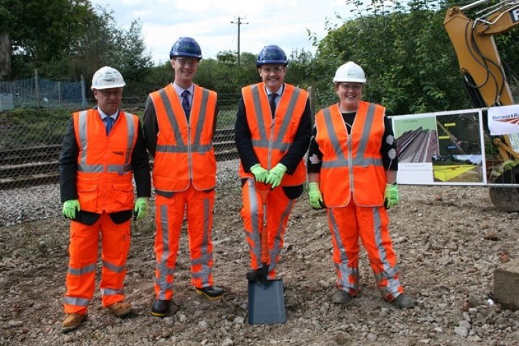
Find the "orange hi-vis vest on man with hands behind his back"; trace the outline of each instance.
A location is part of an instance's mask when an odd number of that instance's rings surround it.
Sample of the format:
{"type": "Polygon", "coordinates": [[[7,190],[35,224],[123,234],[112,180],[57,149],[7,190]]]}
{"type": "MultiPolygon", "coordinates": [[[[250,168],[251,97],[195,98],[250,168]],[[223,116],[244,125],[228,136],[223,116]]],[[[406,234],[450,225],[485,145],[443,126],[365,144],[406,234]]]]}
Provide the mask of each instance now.
{"type": "Polygon", "coordinates": [[[217,93],[194,85],[189,123],[172,84],[149,95],[158,122],[154,188],[158,192],[181,192],[189,188],[190,181],[197,190],[215,188],[212,135],[217,93]]]}

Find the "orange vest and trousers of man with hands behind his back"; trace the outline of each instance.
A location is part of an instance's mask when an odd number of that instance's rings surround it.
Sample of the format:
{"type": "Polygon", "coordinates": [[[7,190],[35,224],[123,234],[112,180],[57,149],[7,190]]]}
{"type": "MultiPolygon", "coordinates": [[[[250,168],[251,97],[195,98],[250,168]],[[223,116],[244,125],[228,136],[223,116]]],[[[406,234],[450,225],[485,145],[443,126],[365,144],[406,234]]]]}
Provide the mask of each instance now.
{"type": "Polygon", "coordinates": [[[154,290],[159,300],[173,297],[176,253],[187,209],[191,283],[212,286],[212,210],[216,158],[212,146],[217,93],[194,84],[188,122],[172,84],[149,94],[158,123],[153,184],[156,194],[154,290]]]}

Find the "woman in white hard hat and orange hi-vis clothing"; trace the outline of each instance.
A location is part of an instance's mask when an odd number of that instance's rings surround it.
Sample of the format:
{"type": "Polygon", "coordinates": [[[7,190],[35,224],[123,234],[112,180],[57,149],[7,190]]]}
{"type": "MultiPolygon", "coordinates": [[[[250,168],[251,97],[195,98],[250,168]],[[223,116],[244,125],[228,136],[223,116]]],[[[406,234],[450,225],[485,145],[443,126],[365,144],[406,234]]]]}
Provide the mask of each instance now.
{"type": "Polygon", "coordinates": [[[388,212],[399,202],[397,145],[379,104],[362,101],[365,74],[347,62],[334,77],[339,102],[316,114],[307,170],[309,201],[326,208],[338,276],[332,301],[346,304],[358,293],[358,237],[367,251],[384,300],[399,308],[415,302],[403,293],[388,212]]]}

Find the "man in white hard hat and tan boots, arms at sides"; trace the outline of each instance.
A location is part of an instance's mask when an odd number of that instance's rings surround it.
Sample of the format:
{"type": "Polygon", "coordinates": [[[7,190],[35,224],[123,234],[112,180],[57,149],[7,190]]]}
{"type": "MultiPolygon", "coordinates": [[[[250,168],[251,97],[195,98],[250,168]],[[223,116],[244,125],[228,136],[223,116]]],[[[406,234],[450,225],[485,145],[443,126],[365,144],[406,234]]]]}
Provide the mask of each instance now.
{"type": "Polygon", "coordinates": [[[113,315],[131,312],[124,280],[130,220],[147,216],[151,179],[138,117],[120,110],[125,81],[104,66],[92,78],[97,106],[73,113],[60,155],[63,215],[71,219],[62,331],[80,327],[95,289],[102,239],[101,300],[113,315]],[[134,202],[135,180],[137,199],[134,202]]]}

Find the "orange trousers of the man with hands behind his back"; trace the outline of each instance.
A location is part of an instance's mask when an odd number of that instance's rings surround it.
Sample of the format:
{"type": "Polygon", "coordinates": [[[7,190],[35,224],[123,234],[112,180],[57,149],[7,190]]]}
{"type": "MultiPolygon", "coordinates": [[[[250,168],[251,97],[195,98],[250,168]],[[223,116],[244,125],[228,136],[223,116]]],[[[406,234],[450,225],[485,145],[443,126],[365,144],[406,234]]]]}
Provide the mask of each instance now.
{"type": "Polygon", "coordinates": [[[215,190],[199,191],[192,185],[172,197],[156,195],[156,269],[154,290],[159,300],[173,298],[176,254],[183,217],[187,210],[188,239],[191,256],[191,284],[197,288],[212,286],[212,209],[215,190]]]}

